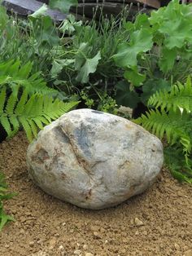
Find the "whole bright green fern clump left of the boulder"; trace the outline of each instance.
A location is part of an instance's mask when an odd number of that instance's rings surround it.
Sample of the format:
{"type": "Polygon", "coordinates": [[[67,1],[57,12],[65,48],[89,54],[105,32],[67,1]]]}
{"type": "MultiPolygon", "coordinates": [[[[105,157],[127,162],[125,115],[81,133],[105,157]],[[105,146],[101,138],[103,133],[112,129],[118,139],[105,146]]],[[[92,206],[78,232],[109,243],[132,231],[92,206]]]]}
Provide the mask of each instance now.
{"type": "Polygon", "coordinates": [[[55,99],[58,91],[47,87],[40,73],[30,76],[31,68],[31,63],[22,66],[19,60],[0,64],[0,123],[8,137],[23,126],[29,141],[43,125],[78,104],[55,99]]]}

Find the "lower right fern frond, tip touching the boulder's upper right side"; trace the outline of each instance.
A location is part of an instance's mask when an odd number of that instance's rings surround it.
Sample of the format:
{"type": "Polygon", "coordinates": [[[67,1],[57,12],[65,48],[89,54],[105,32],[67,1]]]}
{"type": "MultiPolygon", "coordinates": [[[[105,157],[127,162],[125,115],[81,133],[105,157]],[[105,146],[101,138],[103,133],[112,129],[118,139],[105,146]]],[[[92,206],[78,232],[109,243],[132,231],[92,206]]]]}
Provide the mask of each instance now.
{"type": "Polygon", "coordinates": [[[183,148],[182,154],[185,157],[186,165],[190,166],[188,161],[192,149],[192,118],[187,112],[169,110],[166,113],[164,110],[161,112],[158,109],[150,110],[146,116],[142,115],[135,122],[157,135],[159,139],[165,135],[171,146],[176,143],[180,144],[180,147],[183,148]]]}

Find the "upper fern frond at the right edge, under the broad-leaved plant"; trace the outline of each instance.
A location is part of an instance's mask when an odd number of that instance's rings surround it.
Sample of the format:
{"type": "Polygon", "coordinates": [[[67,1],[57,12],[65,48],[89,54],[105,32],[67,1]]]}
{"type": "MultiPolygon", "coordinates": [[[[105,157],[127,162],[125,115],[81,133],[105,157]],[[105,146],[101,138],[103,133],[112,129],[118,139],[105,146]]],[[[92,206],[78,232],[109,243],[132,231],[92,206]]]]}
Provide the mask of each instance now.
{"type": "Polygon", "coordinates": [[[177,85],[172,86],[170,91],[160,90],[152,95],[148,101],[148,104],[155,108],[164,110],[172,109],[185,109],[188,113],[192,112],[192,84],[191,79],[188,77],[185,85],[180,82],[177,85]]]}

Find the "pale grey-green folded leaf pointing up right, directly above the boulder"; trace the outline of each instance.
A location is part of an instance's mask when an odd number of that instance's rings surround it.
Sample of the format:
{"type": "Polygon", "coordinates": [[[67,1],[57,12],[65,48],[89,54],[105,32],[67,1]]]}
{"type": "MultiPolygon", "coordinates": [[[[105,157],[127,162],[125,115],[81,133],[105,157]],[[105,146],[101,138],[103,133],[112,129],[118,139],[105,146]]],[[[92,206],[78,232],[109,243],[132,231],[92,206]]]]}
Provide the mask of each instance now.
{"type": "Polygon", "coordinates": [[[76,77],[78,82],[86,83],[89,81],[89,74],[94,73],[98,66],[98,61],[101,60],[100,51],[92,59],[86,59],[85,63],[79,69],[79,73],[76,77]]]}

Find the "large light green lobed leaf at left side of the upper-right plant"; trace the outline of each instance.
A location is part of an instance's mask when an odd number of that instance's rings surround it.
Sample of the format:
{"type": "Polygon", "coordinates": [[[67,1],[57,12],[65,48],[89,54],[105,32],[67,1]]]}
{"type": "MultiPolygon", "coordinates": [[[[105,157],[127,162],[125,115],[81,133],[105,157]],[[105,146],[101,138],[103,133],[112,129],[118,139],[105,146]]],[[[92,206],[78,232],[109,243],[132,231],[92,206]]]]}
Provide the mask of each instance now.
{"type": "Polygon", "coordinates": [[[137,65],[137,55],[151,50],[152,46],[151,30],[140,29],[133,32],[129,43],[120,44],[117,54],[113,58],[120,67],[133,67],[137,65]]]}

